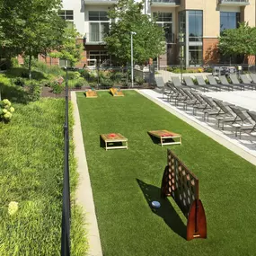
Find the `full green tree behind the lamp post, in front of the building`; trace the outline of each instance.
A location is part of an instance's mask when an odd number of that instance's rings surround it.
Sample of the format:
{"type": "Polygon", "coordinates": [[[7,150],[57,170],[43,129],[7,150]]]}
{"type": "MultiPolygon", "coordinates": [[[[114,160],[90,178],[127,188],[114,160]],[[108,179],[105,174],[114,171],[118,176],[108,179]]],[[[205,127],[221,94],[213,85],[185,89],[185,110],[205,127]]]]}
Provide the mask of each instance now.
{"type": "Polygon", "coordinates": [[[111,23],[104,41],[110,54],[115,56],[121,65],[126,65],[131,58],[131,31],[137,33],[133,36],[133,57],[137,64],[145,63],[149,58],[164,53],[163,29],[155,20],[151,20],[150,16],[142,14],[142,9],[143,3],[119,0],[109,12],[110,19],[115,19],[117,22],[111,23]]]}

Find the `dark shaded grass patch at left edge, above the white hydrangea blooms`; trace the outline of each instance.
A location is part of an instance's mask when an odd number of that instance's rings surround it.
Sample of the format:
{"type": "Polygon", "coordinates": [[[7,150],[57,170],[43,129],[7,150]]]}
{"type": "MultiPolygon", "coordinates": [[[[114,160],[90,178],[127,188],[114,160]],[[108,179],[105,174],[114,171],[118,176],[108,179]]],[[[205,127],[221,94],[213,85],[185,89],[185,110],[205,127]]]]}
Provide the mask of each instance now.
{"type": "Polygon", "coordinates": [[[29,94],[21,87],[0,84],[0,90],[2,99],[22,104],[29,102],[29,94]]]}

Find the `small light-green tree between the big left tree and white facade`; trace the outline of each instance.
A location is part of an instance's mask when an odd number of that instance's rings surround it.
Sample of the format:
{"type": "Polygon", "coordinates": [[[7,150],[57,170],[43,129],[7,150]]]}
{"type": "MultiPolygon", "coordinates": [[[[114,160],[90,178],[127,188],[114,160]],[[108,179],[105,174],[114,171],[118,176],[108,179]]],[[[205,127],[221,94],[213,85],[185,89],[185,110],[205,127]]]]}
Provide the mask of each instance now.
{"type": "Polygon", "coordinates": [[[64,40],[62,45],[59,46],[57,52],[52,52],[51,57],[59,57],[66,59],[70,66],[73,67],[81,59],[83,46],[76,39],[79,37],[78,31],[66,28],[64,31],[64,40]]]}

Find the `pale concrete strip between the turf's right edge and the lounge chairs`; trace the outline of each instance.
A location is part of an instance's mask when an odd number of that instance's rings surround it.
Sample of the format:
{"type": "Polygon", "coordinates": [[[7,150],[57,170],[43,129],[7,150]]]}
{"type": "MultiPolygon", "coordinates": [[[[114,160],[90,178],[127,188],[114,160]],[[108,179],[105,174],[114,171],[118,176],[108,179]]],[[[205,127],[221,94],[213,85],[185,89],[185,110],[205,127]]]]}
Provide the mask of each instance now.
{"type": "Polygon", "coordinates": [[[234,132],[216,129],[215,124],[212,125],[204,122],[202,116],[193,116],[191,112],[185,112],[182,108],[176,108],[169,102],[163,101],[162,93],[156,93],[153,90],[137,90],[137,92],[145,95],[146,98],[163,107],[163,109],[168,110],[173,115],[189,123],[192,127],[199,129],[208,137],[213,138],[219,144],[256,165],[256,137],[250,137],[249,139],[247,137],[242,139],[235,138],[234,132]]]}

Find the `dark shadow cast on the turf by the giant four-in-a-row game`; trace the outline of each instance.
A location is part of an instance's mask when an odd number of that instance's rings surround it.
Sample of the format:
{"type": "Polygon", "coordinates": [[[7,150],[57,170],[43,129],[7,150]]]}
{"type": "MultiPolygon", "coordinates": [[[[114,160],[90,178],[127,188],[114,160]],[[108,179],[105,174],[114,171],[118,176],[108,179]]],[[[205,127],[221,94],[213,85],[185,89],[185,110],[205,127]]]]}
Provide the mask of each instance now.
{"type": "Polygon", "coordinates": [[[186,239],[187,228],[181,220],[181,217],[177,214],[175,209],[172,207],[169,199],[161,198],[161,189],[153,185],[146,184],[143,181],[137,179],[137,183],[142,190],[148,206],[157,216],[161,216],[164,222],[172,229],[173,232],[179,234],[182,238],[186,239]],[[161,204],[160,208],[153,208],[151,206],[152,201],[159,201],[161,204]]]}

